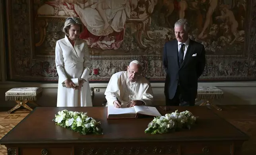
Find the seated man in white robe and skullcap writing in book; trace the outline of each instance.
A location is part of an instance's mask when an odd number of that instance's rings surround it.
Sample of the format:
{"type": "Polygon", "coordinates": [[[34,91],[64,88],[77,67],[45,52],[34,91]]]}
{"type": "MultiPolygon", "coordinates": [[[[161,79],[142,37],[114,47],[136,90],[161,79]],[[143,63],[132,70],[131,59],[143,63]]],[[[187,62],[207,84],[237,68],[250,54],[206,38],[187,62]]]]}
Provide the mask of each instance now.
{"type": "Polygon", "coordinates": [[[134,60],[127,66],[127,71],[113,74],[105,91],[106,106],[120,108],[121,104],[127,104],[127,107],[151,105],[153,91],[141,72],[142,64],[134,60]]]}

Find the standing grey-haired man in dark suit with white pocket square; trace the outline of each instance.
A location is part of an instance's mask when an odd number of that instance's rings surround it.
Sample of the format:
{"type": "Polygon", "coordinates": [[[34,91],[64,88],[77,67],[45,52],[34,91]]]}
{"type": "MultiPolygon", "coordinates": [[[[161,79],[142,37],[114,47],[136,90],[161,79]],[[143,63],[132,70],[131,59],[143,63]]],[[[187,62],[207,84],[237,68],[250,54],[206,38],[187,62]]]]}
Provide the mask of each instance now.
{"type": "Polygon", "coordinates": [[[189,28],[186,19],[176,21],[176,40],[166,42],[163,48],[167,106],[195,105],[198,78],[204,71],[206,52],[204,45],[188,37],[189,28]]]}

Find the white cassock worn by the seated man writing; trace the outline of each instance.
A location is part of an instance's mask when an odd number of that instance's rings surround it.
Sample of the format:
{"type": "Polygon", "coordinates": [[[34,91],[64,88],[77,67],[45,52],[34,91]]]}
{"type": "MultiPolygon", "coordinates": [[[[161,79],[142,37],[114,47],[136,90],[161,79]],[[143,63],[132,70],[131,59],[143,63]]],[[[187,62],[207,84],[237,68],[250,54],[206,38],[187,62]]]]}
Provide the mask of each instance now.
{"type": "Polygon", "coordinates": [[[106,106],[113,106],[117,98],[122,104],[128,104],[132,100],[142,100],[146,105],[153,104],[153,91],[149,81],[140,76],[136,82],[130,82],[127,71],[112,75],[105,95],[106,106]]]}

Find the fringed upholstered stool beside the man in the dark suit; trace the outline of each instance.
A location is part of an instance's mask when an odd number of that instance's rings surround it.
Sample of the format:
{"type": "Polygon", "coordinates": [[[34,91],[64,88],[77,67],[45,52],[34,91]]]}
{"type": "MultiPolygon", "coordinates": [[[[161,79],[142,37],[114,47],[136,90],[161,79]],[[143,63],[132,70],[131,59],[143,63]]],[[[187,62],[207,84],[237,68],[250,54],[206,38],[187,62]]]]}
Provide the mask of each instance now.
{"type": "Polygon", "coordinates": [[[209,104],[210,106],[213,106],[217,110],[221,111],[221,108],[216,106],[212,101],[215,99],[221,99],[223,98],[223,96],[223,91],[215,86],[201,86],[197,89],[196,102],[204,100],[204,102],[200,104],[200,106],[205,106],[206,104],[209,104]]]}

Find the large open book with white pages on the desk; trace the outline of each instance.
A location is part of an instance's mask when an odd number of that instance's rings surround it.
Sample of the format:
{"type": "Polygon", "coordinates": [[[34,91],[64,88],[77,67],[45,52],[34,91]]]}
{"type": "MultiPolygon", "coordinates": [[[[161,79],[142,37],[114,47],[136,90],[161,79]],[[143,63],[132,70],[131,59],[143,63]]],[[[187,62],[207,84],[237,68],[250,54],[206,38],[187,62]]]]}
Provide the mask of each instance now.
{"type": "Polygon", "coordinates": [[[127,105],[122,105],[122,108],[115,108],[114,106],[108,106],[108,119],[125,119],[125,118],[137,118],[138,114],[149,116],[162,116],[157,108],[151,106],[134,106],[127,108],[127,105]]]}

